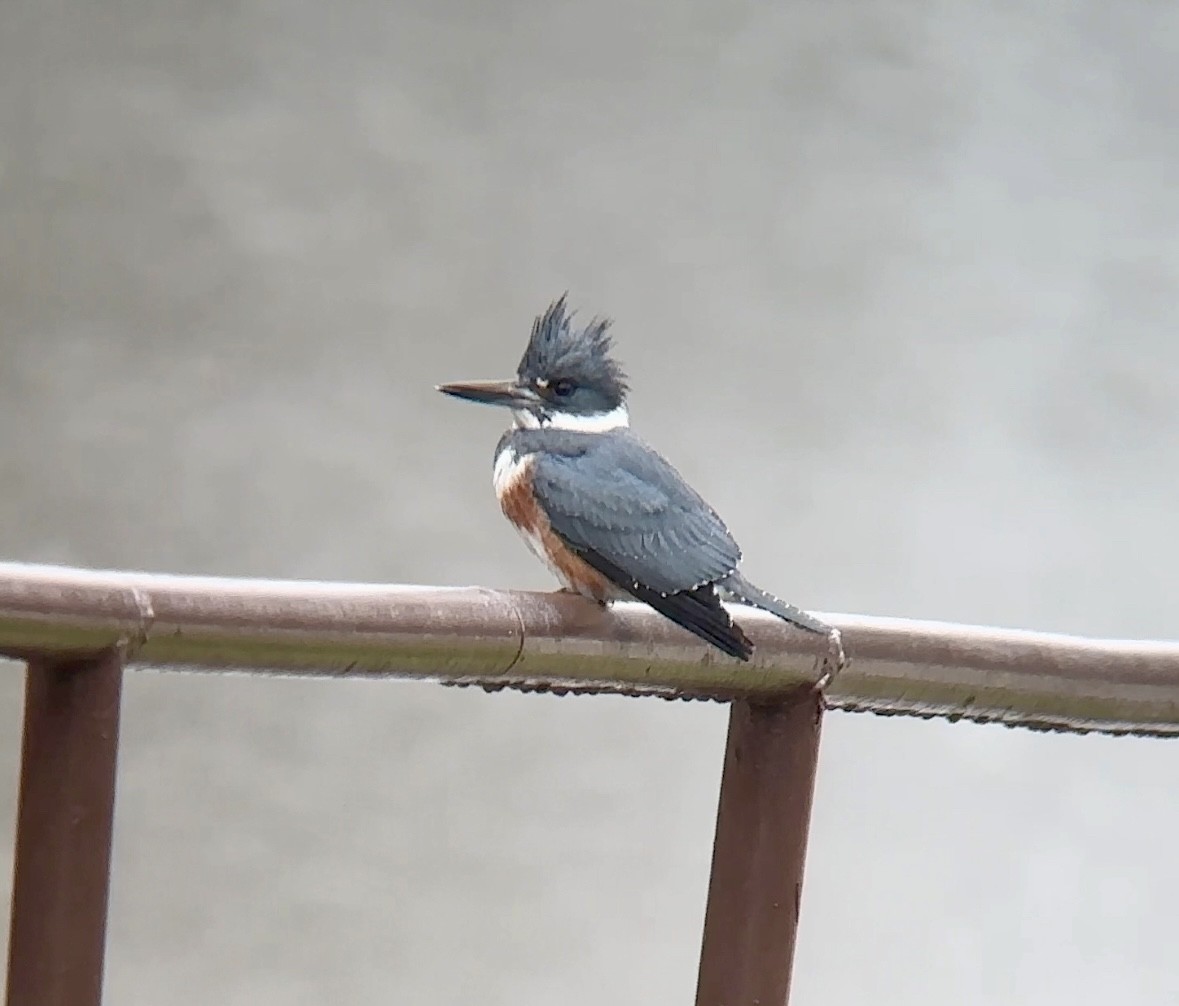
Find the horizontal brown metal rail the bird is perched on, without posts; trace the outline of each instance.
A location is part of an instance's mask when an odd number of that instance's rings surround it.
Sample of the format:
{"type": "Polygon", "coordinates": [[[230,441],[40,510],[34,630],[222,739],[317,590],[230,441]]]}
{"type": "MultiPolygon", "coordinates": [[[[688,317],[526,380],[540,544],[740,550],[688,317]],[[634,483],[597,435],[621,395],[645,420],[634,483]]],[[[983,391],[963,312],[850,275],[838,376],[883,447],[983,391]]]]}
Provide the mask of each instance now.
{"type": "MultiPolygon", "coordinates": [[[[1179,643],[864,616],[829,705],[1075,732],[1179,735],[1179,643]]],[[[129,666],[430,678],[487,689],[777,702],[825,640],[743,609],[752,664],[645,606],[560,593],[174,577],[0,563],[0,653],[129,666]]]]}

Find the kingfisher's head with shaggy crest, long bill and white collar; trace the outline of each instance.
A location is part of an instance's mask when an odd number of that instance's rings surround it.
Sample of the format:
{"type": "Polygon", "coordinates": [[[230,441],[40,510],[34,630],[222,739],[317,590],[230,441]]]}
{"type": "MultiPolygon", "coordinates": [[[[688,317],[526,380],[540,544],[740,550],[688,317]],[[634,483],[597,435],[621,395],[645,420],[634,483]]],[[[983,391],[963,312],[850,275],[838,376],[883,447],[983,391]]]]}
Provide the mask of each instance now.
{"type": "Polygon", "coordinates": [[[604,432],[628,425],[626,375],[611,355],[610,322],[573,324],[565,297],[532,326],[532,337],[508,381],[440,384],[457,399],[512,409],[516,426],[604,432]]]}

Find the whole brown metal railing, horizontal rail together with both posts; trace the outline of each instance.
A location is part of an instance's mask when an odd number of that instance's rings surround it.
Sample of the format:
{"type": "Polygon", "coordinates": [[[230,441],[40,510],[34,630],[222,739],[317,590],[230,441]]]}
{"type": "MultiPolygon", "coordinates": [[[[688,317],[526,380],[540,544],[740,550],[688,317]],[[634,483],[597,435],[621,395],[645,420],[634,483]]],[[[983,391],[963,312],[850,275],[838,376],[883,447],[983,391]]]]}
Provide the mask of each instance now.
{"type": "Polygon", "coordinates": [[[634,604],[0,563],[0,653],[27,664],[8,1004],[101,999],[129,666],[731,703],[698,1006],[788,999],[824,705],[1179,735],[1179,643],[821,617],[850,658],[825,703],[825,640],[749,609],[757,655],[740,664],[634,604]]]}

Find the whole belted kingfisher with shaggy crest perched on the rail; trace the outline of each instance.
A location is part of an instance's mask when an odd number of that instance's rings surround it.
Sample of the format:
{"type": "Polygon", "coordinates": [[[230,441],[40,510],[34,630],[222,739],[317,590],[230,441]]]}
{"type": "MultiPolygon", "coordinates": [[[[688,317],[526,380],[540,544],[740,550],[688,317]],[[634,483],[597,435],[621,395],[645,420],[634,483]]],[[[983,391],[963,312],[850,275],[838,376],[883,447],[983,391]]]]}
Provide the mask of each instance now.
{"type": "Polygon", "coordinates": [[[515,380],[439,386],[512,410],[495,448],[505,515],[567,591],[635,598],[732,657],[749,660],[753,644],[722,598],[825,636],[825,684],[845,663],[839,631],[746,580],[716,511],[631,432],[608,328],[574,326],[562,296],[533,323],[515,380]]]}

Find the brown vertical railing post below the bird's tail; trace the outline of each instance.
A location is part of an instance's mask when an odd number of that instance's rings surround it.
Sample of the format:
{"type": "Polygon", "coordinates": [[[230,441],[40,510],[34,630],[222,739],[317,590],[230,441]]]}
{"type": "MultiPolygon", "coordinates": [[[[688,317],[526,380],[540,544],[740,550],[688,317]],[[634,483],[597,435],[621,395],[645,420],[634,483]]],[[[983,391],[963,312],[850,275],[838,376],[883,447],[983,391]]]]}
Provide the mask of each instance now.
{"type": "Polygon", "coordinates": [[[697,1006],[790,998],[822,698],[729,714],[697,1006]]]}

